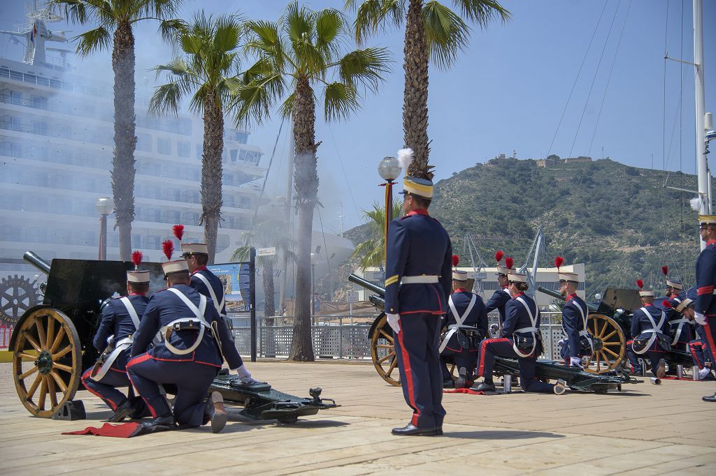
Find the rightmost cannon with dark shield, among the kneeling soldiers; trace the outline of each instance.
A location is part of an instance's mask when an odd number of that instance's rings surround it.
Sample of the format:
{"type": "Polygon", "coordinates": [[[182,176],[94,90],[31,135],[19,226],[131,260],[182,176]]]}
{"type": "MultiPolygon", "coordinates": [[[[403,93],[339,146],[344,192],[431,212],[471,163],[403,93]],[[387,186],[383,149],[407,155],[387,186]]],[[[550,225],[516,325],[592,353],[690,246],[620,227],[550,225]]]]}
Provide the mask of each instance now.
{"type": "MultiPolygon", "coordinates": [[[[559,292],[552,289],[538,286],[537,290],[564,300],[559,292]]],[[[594,355],[589,357],[585,369],[598,374],[613,372],[626,363],[627,339],[632,332],[632,314],[634,309],[642,307],[639,290],[607,288],[599,304],[587,302],[586,306],[589,309],[587,327],[594,337],[594,355]]],[[[664,360],[672,365],[693,365],[691,354],[677,349],[666,352],[664,360]]]]}

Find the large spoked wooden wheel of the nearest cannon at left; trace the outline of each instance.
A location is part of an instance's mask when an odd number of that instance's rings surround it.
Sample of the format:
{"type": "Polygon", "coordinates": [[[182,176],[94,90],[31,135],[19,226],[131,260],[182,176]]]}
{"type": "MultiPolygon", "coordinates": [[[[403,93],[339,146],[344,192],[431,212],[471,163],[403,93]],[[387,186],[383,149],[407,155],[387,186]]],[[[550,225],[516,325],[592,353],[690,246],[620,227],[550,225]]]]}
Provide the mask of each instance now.
{"type": "Polygon", "coordinates": [[[49,418],[77,392],[82,372],[77,329],[59,310],[40,307],[14,332],[17,395],[30,413],[49,418]]]}

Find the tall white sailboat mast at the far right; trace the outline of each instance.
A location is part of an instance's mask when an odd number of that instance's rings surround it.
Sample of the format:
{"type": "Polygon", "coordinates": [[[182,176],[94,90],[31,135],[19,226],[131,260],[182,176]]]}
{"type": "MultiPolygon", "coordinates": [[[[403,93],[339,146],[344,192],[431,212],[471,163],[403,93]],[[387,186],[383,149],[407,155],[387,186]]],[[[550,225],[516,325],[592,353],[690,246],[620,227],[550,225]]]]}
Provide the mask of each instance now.
{"type": "MultiPolygon", "coordinates": [[[[699,181],[699,197],[702,213],[712,214],[709,172],[706,163],[706,131],[704,129],[704,34],[703,0],[694,0],[694,66],[695,66],[695,114],[696,114],[696,171],[699,181]]],[[[699,239],[701,249],[705,243],[699,239]]]]}

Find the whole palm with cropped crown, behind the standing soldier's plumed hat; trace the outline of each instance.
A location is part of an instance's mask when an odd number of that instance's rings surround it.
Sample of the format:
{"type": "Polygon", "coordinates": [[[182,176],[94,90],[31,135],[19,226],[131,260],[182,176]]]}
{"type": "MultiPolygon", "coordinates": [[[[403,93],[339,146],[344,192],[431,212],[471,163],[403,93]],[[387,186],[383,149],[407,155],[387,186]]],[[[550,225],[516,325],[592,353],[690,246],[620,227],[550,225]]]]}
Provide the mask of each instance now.
{"type": "MultiPolygon", "coordinates": [[[[465,19],[482,28],[495,18],[510,18],[510,12],[495,0],[453,0],[453,4],[465,19]]],[[[400,27],[405,19],[403,133],[405,147],[415,151],[405,173],[432,179],[433,166],[427,164],[427,66],[432,61],[440,69],[449,69],[458,52],[468,45],[470,27],[460,15],[435,0],[346,0],[346,8],[357,11],[354,26],[359,44],[385,26],[400,27]]]]}

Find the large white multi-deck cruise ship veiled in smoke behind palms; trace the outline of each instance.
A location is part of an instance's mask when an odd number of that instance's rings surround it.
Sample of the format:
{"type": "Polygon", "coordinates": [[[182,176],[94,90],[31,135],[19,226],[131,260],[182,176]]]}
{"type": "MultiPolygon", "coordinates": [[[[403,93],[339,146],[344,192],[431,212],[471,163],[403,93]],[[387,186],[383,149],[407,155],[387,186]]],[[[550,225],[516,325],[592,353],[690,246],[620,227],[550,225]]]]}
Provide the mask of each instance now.
{"type": "MultiPolygon", "coordinates": [[[[95,206],[100,197],[112,197],[112,83],[78,74],[67,61],[71,45],[45,47],[67,41],[48,28],[59,20],[49,9],[35,10],[28,24],[0,35],[0,41],[20,37],[26,44],[21,61],[0,58],[0,319],[8,323],[37,299],[37,270],[23,262],[24,252],[47,261],[97,259],[95,206]],[[61,56],[51,56],[58,51],[61,56]]],[[[137,81],[132,249],[158,262],[173,224],[185,225],[185,239],[203,241],[203,123],[188,114],[147,116],[152,92],[137,81]]],[[[217,263],[230,261],[260,199],[266,168],[261,149],[248,144],[248,137],[244,129],[227,127],[224,134],[217,263]]],[[[110,215],[107,259],[119,258],[114,222],[110,215]]]]}

